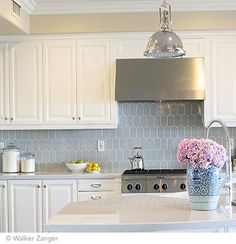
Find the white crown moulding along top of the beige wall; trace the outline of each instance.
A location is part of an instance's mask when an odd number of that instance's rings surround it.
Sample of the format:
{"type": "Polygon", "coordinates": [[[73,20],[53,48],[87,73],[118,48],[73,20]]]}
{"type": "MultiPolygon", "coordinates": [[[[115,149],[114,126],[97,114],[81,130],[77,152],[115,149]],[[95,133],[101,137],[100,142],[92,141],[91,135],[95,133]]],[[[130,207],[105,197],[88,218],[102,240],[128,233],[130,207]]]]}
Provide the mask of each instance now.
{"type": "MultiPolygon", "coordinates": [[[[158,11],[161,0],[14,0],[28,14],[158,11]]],[[[235,0],[167,0],[173,11],[236,10],[235,0]]]]}

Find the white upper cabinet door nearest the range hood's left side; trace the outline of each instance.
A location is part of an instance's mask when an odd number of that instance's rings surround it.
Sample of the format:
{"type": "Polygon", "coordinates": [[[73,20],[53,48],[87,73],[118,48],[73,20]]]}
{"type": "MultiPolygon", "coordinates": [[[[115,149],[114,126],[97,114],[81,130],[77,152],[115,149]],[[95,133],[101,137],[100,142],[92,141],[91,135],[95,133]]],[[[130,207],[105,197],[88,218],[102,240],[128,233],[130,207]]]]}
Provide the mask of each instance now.
{"type": "Polygon", "coordinates": [[[77,114],[80,124],[111,123],[109,58],[108,41],[78,41],[77,114]]]}

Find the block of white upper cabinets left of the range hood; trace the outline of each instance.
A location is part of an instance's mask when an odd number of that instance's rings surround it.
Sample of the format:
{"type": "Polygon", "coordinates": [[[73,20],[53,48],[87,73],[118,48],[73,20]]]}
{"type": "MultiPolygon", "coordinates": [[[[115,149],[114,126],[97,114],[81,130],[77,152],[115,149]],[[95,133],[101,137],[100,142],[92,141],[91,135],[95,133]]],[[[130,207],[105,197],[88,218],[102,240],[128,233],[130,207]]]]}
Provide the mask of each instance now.
{"type": "Polygon", "coordinates": [[[117,128],[110,50],[95,38],[0,44],[1,129],[117,128]]]}

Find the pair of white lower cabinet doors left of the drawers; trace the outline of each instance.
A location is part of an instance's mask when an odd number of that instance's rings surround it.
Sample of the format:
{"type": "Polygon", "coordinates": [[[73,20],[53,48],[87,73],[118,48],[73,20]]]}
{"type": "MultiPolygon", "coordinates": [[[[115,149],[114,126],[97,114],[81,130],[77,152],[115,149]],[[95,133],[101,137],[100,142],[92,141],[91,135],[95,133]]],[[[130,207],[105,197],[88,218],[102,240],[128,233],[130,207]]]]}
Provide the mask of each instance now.
{"type": "Polygon", "coordinates": [[[52,215],[77,200],[76,180],[9,180],[8,189],[10,232],[41,232],[52,215]]]}

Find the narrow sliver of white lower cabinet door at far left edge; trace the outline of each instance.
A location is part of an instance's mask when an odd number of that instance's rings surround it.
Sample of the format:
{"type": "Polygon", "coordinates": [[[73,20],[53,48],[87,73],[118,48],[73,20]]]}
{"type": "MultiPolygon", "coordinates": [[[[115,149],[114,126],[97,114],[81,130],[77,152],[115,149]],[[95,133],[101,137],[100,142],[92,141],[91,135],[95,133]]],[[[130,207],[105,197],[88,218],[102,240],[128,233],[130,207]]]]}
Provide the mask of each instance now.
{"type": "Polygon", "coordinates": [[[0,232],[8,232],[7,182],[0,181],[0,232]]]}

